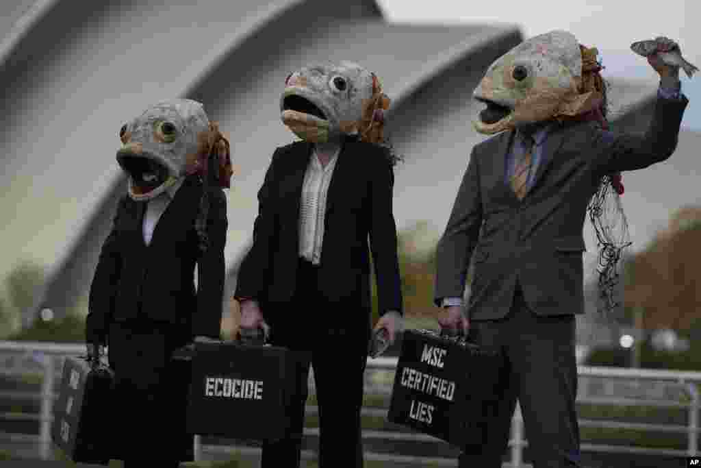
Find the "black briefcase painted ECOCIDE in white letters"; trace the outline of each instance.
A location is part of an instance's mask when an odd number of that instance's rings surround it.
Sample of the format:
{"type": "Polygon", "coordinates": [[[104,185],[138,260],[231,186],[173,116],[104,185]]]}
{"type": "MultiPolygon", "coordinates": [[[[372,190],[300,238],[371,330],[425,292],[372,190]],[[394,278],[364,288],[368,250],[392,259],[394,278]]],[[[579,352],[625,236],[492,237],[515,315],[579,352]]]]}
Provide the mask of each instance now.
{"type": "Polygon", "coordinates": [[[290,430],[297,378],[286,348],[196,343],[191,365],[189,433],[262,442],[290,430]]]}

